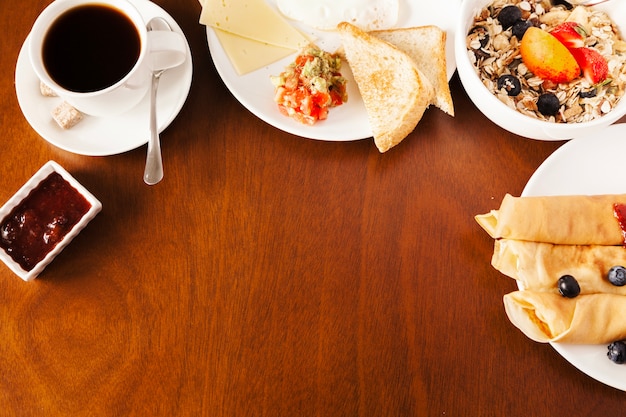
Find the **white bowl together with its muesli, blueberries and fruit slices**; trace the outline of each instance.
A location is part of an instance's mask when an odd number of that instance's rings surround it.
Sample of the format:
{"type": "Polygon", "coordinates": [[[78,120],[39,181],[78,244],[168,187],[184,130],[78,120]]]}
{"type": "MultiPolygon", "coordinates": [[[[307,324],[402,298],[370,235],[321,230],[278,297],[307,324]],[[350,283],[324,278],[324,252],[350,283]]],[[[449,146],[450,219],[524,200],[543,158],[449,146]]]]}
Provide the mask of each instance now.
{"type": "Polygon", "coordinates": [[[457,70],[470,99],[498,126],[531,139],[569,140],[597,133],[626,115],[623,35],[623,0],[591,7],[563,0],[464,0],[455,33],[457,70]],[[568,33],[570,28],[575,32],[568,33]],[[533,62],[541,56],[537,50],[545,49],[529,39],[537,32],[541,39],[543,33],[557,37],[574,65],[580,64],[573,79],[540,71],[553,65],[552,56],[533,62]],[[581,61],[581,52],[588,50],[601,55],[604,64],[595,58],[581,61]],[[602,72],[598,68],[604,73],[596,74],[602,72]]]}

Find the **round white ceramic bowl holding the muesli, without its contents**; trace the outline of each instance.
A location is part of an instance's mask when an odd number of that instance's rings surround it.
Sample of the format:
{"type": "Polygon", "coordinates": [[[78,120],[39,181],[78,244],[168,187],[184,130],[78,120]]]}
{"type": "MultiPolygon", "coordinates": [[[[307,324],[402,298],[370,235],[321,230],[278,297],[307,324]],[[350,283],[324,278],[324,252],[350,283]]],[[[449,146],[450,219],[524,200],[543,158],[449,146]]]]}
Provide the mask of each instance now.
{"type": "MultiPolygon", "coordinates": [[[[570,124],[534,119],[498,100],[480,81],[469,60],[466,47],[466,36],[473,25],[474,17],[491,2],[492,0],[463,0],[454,39],[456,65],[461,83],[470,99],[487,118],[516,135],[540,140],[567,140],[597,132],[626,115],[626,97],[620,99],[613,110],[596,120],[570,124]]],[[[626,36],[626,1],[611,0],[595,7],[606,11],[620,28],[622,37],[626,36]]]]}

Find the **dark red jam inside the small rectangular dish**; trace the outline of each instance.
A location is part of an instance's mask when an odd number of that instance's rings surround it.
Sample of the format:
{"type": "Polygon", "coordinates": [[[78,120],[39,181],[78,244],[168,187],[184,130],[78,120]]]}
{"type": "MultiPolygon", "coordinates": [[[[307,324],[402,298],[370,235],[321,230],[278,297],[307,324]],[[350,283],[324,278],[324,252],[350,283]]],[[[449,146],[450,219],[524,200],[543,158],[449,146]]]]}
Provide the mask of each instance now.
{"type": "Polygon", "coordinates": [[[30,271],[89,211],[91,204],[53,172],[0,225],[0,247],[30,271]]]}

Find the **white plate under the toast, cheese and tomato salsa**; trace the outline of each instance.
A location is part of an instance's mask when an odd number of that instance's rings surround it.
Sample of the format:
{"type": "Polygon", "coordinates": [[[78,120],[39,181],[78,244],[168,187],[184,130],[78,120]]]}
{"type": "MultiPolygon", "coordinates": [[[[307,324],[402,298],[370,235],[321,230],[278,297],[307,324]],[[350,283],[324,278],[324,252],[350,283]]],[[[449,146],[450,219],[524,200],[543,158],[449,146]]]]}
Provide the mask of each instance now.
{"type": "MultiPolygon", "coordinates": [[[[274,1],[269,1],[276,8],[274,1]]],[[[400,18],[397,27],[437,25],[447,32],[446,63],[448,79],[456,69],[454,60],[454,26],[461,0],[416,1],[400,0],[400,18]]],[[[323,50],[334,52],[340,45],[339,35],[333,32],[313,30],[293,22],[304,33],[313,34],[315,43],[323,50]]],[[[293,135],[309,139],[348,141],[369,138],[372,129],[367,120],[365,106],[359,95],[352,74],[346,65],[342,75],[348,79],[348,102],[330,109],[328,119],[306,126],[280,113],[274,103],[274,87],[271,75],[279,75],[295,57],[291,55],[270,66],[240,76],[224,52],[217,35],[207,27],[207,40],[211,57],[224,84],[241,104],[266,123],[293,135]]],[[[432,106],[431,106],[432,107],[432,106]]]]}

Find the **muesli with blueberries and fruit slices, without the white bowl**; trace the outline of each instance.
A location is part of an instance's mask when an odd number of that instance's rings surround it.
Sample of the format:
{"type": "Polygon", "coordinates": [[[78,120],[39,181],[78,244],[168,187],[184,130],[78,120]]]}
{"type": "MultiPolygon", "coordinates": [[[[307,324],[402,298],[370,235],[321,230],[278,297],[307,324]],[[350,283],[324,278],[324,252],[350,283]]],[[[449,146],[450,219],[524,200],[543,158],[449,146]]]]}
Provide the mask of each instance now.
{"type": "Polygon", "coordinates": [[[540,120],[588,122],[624,95],[626,42],[606,13],[567,6],[496,0],[475,16],[467,50],[482,83],[509,107],[540,120]]]}

